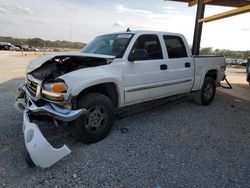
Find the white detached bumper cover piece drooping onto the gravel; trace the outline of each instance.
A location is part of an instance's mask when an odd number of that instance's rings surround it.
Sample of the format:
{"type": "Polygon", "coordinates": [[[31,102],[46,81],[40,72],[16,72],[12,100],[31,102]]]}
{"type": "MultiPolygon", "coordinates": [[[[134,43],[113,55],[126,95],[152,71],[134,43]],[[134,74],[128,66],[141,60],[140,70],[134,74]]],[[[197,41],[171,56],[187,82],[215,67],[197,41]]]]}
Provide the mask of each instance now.
{"type": "Polygon", "coordinates": [[[41,168],[50,167],[71,152],[66,145],[59,149],[53,148],[44,138],[38,126],[30,122],[26,110],[23,113],[23,132],[30,157],[41,168]]]}

